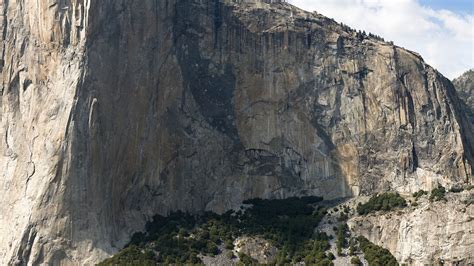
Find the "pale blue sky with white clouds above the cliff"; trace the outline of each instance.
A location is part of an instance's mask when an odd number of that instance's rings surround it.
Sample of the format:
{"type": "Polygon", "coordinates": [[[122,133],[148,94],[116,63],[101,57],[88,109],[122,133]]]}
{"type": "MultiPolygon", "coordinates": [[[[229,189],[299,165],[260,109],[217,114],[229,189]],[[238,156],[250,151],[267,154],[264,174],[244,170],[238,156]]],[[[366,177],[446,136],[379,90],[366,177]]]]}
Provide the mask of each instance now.
{"type": "Polygon", "coordinates": [[[474,68],[474,0],[289,0],[418,52],[448,78],[474,68]]]}

